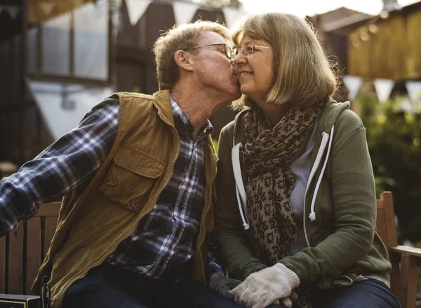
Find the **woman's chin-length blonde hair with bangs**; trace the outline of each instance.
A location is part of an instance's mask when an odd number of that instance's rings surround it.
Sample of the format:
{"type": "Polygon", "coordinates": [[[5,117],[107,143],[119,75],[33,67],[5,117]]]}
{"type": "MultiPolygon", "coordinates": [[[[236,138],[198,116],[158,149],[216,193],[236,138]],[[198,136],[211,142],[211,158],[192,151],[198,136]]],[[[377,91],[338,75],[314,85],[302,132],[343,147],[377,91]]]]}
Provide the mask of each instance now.
{"type": "MultiPolygon", "coordinates": [[[[234,43],[244,34],[263,39],[273,48],[274,80],[267,102],[309,106],[327,100],[338,88],[326,54],[312,26],[295,15],[262,13],[243,16],[232,28],[234,43]]],[[[246,95],[233,102],[234,109],[250,106],[246,95]]]]}

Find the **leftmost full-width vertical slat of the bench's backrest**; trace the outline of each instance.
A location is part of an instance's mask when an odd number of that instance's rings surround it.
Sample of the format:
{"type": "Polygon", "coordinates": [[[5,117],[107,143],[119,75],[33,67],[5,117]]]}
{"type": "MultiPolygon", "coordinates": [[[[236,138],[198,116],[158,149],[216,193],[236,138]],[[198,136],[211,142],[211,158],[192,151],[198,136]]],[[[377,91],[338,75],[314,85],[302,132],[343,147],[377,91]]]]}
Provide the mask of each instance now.
{"type": "Polygon", "coordinates": [[[9,255],[8,255],[8,293],[22,294],[23,273],[23,223],[18,225],[15,231],[9,232],[9,255]]]}

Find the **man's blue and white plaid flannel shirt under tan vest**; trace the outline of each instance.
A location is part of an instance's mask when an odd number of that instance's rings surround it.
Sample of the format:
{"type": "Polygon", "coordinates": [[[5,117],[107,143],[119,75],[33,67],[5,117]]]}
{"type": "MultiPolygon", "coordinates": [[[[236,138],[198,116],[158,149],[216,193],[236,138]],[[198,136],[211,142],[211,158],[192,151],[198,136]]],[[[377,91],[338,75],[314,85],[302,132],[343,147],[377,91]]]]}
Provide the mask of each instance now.
{"type": "MultiPolygon", "coordinates": [[[[204,204],[203,138],[213,130],[208,121],[196,137],[186,114],[173,100],[171,104],[181,142],[173,176],[152,211],[105,260],[153,279],[180,279],[186,274],[204,204]]],[[[118,121],[119,99],[112,95],[18,173],[1,180],[0,236],[34,215],[41,203],[90,180],[112,148],[118,121]]],[[[223,274],[210,253],[206,276],[215,273],[223,274]]]]}

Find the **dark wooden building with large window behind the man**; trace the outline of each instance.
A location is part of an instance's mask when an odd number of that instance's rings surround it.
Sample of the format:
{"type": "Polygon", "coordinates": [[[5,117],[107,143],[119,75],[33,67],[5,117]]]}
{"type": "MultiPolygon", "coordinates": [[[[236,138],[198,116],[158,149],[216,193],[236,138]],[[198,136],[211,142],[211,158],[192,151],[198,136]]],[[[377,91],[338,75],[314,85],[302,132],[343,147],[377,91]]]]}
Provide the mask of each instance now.
{"type": "MultiPolygon", "coordinates": [[[[32,159],[114,91],[158,90],[151,48],[175,24],[175,4],[140,1],[133,22],[133,0],[1,0],[0,161],[32,159]]],[[[227,19],[191,5],[189,21],[227,19]]],[[[211,118],[214,138],[233,118],[228,107],[211,118]]]]}

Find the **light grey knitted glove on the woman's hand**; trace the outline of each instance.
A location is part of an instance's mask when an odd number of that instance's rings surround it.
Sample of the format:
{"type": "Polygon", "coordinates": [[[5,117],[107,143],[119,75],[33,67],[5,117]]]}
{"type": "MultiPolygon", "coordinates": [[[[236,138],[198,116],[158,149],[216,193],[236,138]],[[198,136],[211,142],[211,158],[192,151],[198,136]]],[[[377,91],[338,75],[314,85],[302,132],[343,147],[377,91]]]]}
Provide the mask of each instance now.
{"type": "Polygon", "coordinates": [[[287,298],[298,286],[298,276],[285,265],[276,263],[248,276],[230,294],[236,302],[248,308],[265,308],[279,299],[285,304],[290,304],[287,298]]]}

